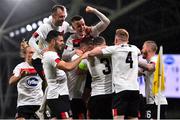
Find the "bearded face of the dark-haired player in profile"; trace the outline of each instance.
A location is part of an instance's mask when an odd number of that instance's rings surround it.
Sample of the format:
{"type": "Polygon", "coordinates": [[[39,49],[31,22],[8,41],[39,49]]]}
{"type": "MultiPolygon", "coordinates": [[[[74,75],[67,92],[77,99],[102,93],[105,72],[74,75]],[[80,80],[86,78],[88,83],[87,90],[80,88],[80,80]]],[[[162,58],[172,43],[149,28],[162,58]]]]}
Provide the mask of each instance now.
{"type": "Polygon", "coordinates": [[[56,41],[55,41],[55,46],[54,48],[56,50],[62,50],[63,49],[63,46],[64,46],[64,39],[62,36],[58,36],[56,41]]]}

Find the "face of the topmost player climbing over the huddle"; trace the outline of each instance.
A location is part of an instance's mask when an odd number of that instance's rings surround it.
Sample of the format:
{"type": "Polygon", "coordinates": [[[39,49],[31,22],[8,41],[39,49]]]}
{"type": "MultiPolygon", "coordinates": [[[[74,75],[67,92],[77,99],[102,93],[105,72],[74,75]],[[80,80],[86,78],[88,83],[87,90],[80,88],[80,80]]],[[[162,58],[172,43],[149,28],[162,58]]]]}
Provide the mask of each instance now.
{"type": "Polygon", "coordinates": [[[56,26],[61,26],[65,20],[65,12],[62,11],[60,8],[57,9],[56,13],[53,15],[53,19],[56,26]]]}

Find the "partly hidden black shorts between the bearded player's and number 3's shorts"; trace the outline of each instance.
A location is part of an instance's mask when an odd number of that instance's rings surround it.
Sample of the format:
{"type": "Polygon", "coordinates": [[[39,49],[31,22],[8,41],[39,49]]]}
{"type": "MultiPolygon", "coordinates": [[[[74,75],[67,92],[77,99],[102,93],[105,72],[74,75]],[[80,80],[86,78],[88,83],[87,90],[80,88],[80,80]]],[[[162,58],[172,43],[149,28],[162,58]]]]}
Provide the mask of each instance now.
{"type": "Polygon", "coordinates": [[[71,100],[71,110],[73,119],[86,119],[86,104],[82,99],[74,98],[71,100]]]}

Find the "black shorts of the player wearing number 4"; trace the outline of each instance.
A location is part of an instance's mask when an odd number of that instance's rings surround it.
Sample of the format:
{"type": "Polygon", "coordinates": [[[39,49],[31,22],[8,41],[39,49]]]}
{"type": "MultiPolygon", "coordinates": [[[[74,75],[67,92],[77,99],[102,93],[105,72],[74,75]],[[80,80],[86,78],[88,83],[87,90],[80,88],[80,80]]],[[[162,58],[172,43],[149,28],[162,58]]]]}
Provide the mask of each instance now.
{"type": "Polygon", "coordinates": [[[138,117],[139,91],[125,90],[113,95],[113,116],[138,117]]]}

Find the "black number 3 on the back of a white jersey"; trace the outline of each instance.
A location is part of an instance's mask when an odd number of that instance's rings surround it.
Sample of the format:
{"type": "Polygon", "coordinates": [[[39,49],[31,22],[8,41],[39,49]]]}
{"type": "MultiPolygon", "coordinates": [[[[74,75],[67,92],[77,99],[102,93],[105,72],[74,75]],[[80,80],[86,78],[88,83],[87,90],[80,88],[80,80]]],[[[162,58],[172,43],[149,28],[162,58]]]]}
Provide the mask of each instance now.
{"type": "Polygon", "coordinates": [[[111,67],[110,67],[109,60],[108,60],[107,58],[101,58],[100,61],[101,61],[101,63],[103,63],[103,64],[105,65],[105,67],[106,67],[106,69],[103,70],[103,73],[104,73],[105,75],[111,73],[111,67]]]}

